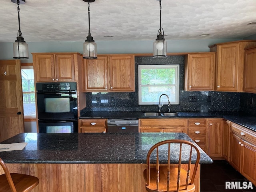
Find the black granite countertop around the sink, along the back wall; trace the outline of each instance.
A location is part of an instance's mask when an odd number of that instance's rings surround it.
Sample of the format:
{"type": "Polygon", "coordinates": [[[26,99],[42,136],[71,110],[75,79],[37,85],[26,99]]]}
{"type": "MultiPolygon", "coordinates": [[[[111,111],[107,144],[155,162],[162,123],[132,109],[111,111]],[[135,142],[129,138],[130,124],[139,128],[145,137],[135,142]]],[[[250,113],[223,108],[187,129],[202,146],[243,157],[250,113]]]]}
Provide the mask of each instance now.
{"type": "Polygon", "coordinates": [[[80,118],[224,118],[256,131],[256,116],[240,112],[178,112],[180,116],[144,116],[143,112],[92,111],[86,112],[80,118]]]}

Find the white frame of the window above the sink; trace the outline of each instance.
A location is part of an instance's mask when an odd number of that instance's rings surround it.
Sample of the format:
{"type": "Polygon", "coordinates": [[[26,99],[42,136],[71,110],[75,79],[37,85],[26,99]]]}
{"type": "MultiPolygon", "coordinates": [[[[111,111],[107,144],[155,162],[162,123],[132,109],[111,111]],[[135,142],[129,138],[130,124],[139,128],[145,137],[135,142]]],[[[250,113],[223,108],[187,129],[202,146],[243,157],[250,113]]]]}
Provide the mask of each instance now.
{"type": "MultiPolygon", "coordinates": [[[[157,84],[154,86],[174,86],[176,87],[176,102],[170,102],[172,105],[180,104],[180,64],[164,64],[164,65],[138,65],[138,105],[158,105],[159,102],[142,102],[142,87],[149,87],[150,85],[141,84],[141,70],[142,69],[166,69],[175,68],[175,80],[176,84],[157,84]]],[[[163,104],[168,104],[168,102],[163,102],[163,104]]]]}

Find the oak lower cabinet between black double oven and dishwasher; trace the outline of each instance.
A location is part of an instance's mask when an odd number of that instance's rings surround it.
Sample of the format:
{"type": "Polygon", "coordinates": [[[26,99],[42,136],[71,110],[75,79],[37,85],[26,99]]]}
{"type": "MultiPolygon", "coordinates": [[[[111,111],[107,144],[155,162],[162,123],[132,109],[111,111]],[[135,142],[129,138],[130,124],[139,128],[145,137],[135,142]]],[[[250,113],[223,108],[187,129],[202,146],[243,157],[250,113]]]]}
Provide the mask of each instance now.
{"type": "Polygon", "coordinates": [[[107,119],[80,119],[80,133],[106,133],[107,119]]]}

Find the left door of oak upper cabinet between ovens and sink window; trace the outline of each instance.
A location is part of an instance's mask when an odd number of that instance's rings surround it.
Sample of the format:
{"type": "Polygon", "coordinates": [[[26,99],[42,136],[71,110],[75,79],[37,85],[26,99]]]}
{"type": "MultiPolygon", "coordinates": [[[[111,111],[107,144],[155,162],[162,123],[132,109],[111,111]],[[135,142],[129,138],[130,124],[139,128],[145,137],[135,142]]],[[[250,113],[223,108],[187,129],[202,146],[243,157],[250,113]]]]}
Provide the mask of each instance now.
{"type": "Polygon", "coordinates": [[[107,56],[84,61],[84,92],[108,91],[108,63],[107,56]]]}

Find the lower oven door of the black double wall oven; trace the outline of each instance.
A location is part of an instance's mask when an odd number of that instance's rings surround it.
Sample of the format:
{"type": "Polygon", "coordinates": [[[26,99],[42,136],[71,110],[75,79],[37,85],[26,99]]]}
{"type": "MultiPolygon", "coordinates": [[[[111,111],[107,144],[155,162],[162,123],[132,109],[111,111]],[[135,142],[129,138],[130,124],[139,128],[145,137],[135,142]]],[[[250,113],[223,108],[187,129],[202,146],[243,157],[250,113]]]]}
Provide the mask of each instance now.
{"type": "Polygon", "coordinates": [[[38,120],[40,133],[77,133],[78,120],[38,120]]]}

